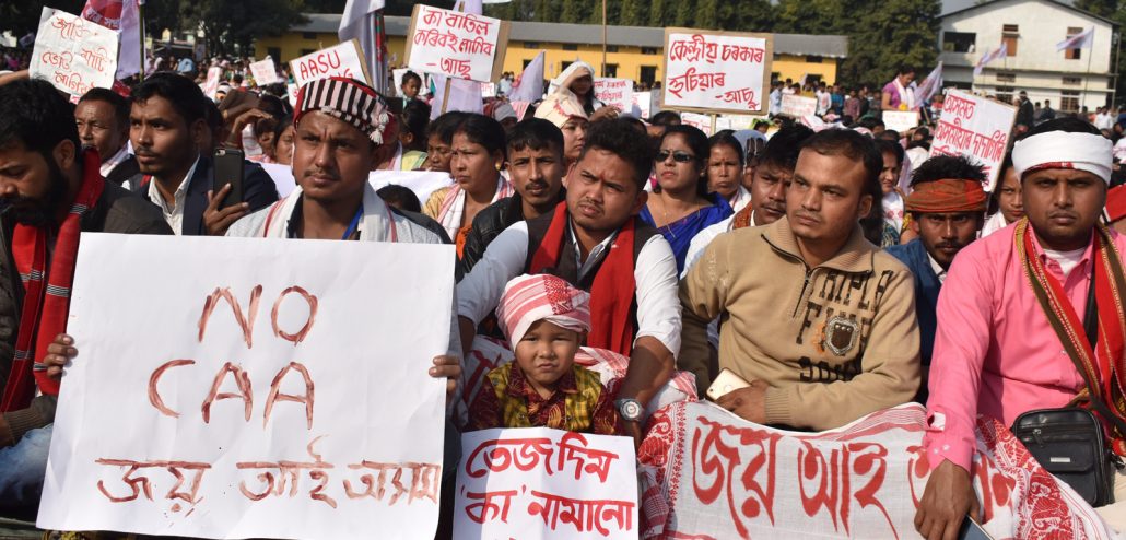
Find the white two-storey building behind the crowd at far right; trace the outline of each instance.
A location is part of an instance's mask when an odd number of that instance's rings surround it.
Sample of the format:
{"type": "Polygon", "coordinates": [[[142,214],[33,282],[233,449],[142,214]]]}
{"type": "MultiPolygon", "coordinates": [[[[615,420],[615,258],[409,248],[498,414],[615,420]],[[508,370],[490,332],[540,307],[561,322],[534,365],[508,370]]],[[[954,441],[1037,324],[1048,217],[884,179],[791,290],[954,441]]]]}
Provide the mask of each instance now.
{"type": "Polygon", "coordinates": [[[1118,25],[1055,0],[991,0],[941,16],[939,60],[948,86],[973,88],[1011,102],[1020,90],[1052,108],[1094,110],[1110,104],[1118,25]],[[1056,52],[1056,44],[1094,28],[1091,48],[1056,52]],[[974,65],[1004,44],[1008,56],[974,76],[974,65]]]}

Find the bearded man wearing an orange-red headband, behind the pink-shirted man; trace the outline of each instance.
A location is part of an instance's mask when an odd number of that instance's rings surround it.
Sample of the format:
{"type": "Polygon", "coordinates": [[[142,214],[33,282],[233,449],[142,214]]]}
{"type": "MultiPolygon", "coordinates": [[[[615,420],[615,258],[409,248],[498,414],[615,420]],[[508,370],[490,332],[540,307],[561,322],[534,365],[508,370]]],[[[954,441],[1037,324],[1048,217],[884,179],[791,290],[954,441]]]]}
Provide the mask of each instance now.
{"type": "Polygon", "coordinates": [[[906,198],[911,231],[919,237],[887,248],[887,253],[914,274],[922,360],[922,384],[915,400],[922,404],[927,403],[930,354],[938,326],[938,292],[954,255],[976,240],[982,228],[989,204],[984,182],[982,168],[964,156],[938,155],[924,161],[911,174],[912,191],[906,198]]]}

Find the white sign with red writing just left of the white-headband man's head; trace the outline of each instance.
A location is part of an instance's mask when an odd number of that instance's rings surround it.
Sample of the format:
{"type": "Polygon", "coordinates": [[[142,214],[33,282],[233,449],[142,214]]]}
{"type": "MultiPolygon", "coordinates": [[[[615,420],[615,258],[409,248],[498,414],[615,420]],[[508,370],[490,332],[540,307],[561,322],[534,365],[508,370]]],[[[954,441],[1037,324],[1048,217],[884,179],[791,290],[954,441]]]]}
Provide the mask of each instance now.
{"type": "Polygon", "coordinates": [[[985,168],[986,191],[992,192],[1016,119],[1016,107],[951,89],[935,126],[930,155],[965,155],[976,161],[985,168]]]}

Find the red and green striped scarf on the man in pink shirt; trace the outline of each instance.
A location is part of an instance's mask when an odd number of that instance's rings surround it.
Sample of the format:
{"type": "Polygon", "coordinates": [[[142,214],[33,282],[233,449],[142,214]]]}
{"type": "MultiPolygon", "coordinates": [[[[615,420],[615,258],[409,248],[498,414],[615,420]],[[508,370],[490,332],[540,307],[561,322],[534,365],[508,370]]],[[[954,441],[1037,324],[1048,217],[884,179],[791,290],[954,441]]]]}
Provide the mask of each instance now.
{"type": "Polygon", "coordinates": [[[1123,429],[1126,426],[1126,358],[1123,354],[1126,343],[1126,316],[1123,312],[1126,278],[1110,234],[1102,225],[1096,227],[1094,272],[1091,279],[1094,280],[1099,330],[1097,348],[1093,349],[1083,330],[1083,320],[1067,300],[1060,281],[1045,271],[1040,258],[1035,256],[1027,217],[1017,222],[1016,248],[1048,324],[1087,381],[1090,397],[1084,399],[1084,408],[1092,410],[1102,420],[1114,452],[1126,456],[1126,430],[1123,429]],[[1107,404],[1109,411],[1106,414],[1114,417],[1106,417],[1091,397],[1107,404]]]}

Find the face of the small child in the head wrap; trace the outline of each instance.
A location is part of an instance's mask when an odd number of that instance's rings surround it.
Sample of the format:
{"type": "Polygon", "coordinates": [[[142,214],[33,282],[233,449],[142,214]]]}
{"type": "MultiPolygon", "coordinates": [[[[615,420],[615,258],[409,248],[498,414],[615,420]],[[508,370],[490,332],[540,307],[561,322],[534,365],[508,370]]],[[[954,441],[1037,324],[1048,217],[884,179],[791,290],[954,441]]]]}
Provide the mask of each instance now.
{"type": "Polygon", "coordinates": [[[555,384],[574,363],[579,333],[537,321],[516,344],[516,362],[536,390],[554,390],[555,384]]]}

